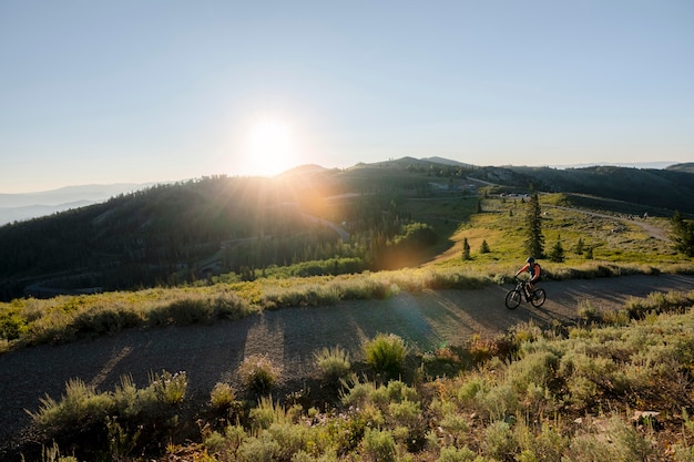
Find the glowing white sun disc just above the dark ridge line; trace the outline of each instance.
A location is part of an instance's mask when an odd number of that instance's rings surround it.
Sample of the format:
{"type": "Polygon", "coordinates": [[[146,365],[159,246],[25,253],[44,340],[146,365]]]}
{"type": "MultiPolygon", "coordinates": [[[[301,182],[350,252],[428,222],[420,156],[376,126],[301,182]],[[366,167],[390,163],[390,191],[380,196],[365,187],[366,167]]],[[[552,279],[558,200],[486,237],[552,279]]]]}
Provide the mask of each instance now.
{"type": "Polygon", "coordinates": [[[246,134],[244,173],[274,176],[296,165],[296,141],[292,125],[277,117],[254,121],[246,134]]]}

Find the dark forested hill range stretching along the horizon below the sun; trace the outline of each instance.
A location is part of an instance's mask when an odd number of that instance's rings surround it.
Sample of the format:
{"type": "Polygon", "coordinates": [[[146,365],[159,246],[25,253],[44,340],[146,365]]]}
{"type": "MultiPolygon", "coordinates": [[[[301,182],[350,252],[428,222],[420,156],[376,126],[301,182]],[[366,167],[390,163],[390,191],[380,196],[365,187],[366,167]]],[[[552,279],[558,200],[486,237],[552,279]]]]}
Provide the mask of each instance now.
{"type": "Polygon", "coordinates": [[[402,157],[272,179],[211,176],[0,227],[0,299],[253,279],[299,264],[302,274],[418,266],[452,245],[484,194],[533,189],[608,212],[694,214],[694,174],[678,170],[402,157]]]}

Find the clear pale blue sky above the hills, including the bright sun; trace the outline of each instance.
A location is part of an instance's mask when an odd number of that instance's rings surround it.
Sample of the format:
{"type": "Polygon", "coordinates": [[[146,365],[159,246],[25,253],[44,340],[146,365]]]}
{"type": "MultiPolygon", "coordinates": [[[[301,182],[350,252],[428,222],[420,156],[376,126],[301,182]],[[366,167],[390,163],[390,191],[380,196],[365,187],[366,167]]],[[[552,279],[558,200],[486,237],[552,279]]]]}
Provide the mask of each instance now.
{"type": "Polygon", "coordinates": [[[0,193],[694,161],[694,1],[0,0],[0,193]]]}

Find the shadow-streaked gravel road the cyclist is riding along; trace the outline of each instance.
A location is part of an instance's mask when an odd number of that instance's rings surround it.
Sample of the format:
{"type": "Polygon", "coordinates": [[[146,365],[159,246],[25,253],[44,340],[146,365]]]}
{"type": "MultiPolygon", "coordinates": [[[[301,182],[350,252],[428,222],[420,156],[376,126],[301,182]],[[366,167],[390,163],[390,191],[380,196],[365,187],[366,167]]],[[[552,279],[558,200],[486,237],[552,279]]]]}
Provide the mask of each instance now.
{"type": "MultiPolygon", "coordinates": [[[[113,390],[120,377],[147,383],[151,371],[186,371],[193,399],[206,400],[212,387],[233,380],[244,357],[267,353],[283,367],[283,380],[299,380],[314,370],[313,352],[339,345],[357,352],[363,339],[392,332],[421,350],[461,345],[473,333],[496,335],[521,321],[572,322],[576,306],[590,300],[602,310],[622,306],[630,296],[692,290],[694,276],[629,276],[611,279],[547,281],[541,308],[522,304],[507,310],[511,288],[400,294],[388,300],[345,301],[331,307],[265,311],[212,326],[127,330],[110,337],[0,356],[0,441],[29,424],[45,393],[59,399],[68,380],[80,378],[99,390],[113,390]]],[[[1,455],[1,452],[0,452],[1,455]]]]}

